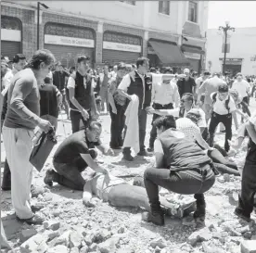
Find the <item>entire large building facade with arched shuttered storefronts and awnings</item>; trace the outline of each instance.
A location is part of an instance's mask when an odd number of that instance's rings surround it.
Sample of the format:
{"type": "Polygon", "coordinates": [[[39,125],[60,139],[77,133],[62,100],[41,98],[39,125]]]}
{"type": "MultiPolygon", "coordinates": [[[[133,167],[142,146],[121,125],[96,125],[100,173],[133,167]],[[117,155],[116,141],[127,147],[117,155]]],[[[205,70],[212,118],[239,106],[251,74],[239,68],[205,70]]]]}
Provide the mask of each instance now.
{"type": "MultiPolygon", "coordinates": [[[[151,66],[205,64],[207,1],[47,1],[40,7],[39,47],[66,67],[86,54],[93,65],[150,59],[151,66]]],[[[37,49],[37,3],[1,2],[1,51],[27,57],[37,49]],[[15,39],[13,39],[15,38],[15,39]]]]}

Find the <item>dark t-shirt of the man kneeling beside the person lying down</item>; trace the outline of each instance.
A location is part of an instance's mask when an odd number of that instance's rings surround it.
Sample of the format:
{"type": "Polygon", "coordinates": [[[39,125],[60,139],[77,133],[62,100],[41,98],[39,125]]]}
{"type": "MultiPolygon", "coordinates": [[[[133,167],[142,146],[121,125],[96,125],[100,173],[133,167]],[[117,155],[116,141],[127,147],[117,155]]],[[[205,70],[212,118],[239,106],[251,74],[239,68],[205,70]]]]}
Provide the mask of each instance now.
{"type": "Polygon", "coordinates": [[[100,145],[101,142],[89,142],[84,130],[71,134],[59,146],[54,155],[54,161],[59,163],[77,164],[78,168],[87,166],[80,154],[89,154],[89,148],[100,145]]]}

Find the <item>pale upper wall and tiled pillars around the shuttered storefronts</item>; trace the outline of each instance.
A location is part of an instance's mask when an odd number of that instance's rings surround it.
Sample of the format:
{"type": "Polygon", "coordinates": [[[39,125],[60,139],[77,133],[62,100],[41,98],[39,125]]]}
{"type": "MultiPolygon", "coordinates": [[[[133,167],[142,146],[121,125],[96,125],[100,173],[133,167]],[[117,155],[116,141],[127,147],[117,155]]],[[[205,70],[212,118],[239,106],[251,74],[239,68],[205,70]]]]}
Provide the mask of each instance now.
{"type": "MultiPolygon", "coordinates": [[[[45,1],[49,9],[40,11],[40,47],[44,46],[45,23],[83,26],[96,32],[96,63],[102,62],[103,33],[122,32],[142,38],[142,55],[147,57],[147,41],[151,38],[182,44],[181,34],[188,18],[188,1],[171,1],[170,15],[159,13],[159,1],[136,1],[135,6],[120,1],[45,1]],[[111,6],[111,11],[106,11],[111,6]]],[[[2,15],[20,18],[23,24],[23,53],[28,57],[36,50],[37,3],[6,0],[1,3],[2,15]]],[[[198,26],[201,37],[189,37],[188,44],[204,49],[207,23],[204,6],[198,1],[198,26]]]]}

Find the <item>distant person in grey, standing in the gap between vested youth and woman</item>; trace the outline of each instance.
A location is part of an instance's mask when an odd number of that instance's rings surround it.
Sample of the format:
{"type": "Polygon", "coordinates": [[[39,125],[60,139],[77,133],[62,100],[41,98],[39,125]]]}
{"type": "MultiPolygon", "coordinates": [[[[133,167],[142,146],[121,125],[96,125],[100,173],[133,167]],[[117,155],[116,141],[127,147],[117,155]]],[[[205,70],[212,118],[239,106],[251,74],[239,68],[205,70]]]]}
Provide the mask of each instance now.
{"type": "Polygon", "coordinates": [[[109,66],[105,65],[103,69],[103,73],[100,75],[100,96],[101,96],[101,111],[105,111],[105,101],[107,104],[107,111],[109,112],[109,79],[111,75],[109,73],[109,66]]]}

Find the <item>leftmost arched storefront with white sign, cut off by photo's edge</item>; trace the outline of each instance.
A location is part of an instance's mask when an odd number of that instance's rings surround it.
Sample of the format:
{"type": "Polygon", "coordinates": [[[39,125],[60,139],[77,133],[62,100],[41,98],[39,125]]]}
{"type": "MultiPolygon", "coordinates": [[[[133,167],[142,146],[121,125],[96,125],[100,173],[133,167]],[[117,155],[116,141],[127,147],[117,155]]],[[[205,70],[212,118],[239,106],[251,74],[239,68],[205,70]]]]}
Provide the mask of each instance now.
{"type": "Polygon", "coordinates": [[[22,24],[17,18],[1,16],[1,55],[11,60],[22,53],[22,24]]]}

